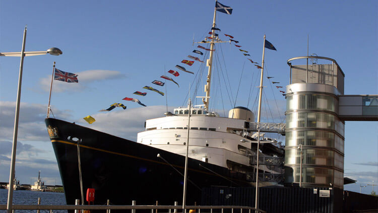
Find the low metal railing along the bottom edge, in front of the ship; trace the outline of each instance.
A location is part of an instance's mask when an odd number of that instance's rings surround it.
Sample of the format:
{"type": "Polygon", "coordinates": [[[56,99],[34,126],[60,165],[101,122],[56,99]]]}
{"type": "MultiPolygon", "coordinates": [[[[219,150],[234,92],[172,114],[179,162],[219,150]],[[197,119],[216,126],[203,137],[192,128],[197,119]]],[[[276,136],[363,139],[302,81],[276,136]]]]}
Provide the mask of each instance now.
{"type": "MultiPolygon", "coordinates": [[[[6,210],[7,205],[0,205],[0,210],[6,210]]],[[[138,210],[151,210],[154,212],[168,212],[180,213],[183,212],[182,206],[178,205],[12,205],[13,212],[17,210],[128,210],[137,213],[138,210]]],[[[230,213],[254,213],[255,207],[238,206],[238,205],[187,205],[185,212],[213,213],[230,212],[230,213]],[[192,210],[193,209],[193,210],[192,210]]],[[[81,211],[84,212],[84,211],[81,211]]],[[[108,211],[107,211],[108,212],[108,211]]],[[[145,211],[144,211],[145,212],[145,211]]],[[[259,209],[257,212],[266,213],[266,211],[259,209]]]]}

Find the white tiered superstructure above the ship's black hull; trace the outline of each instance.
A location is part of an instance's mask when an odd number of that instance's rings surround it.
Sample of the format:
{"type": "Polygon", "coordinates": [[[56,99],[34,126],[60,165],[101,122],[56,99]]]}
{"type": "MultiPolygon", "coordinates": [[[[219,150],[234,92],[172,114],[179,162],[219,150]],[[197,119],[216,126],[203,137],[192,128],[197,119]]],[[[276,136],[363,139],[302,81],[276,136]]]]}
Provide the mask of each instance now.
{"type": "MultiPolygon", "coordinates": [[[[249,115],[248,121],[191,108],[188,156],[230,170],[252,172],[254,167],[249,164],[249,159],[256,150],[251,150],[251,143],[257,141],[250,137],[248,127],[249,120],[254,120],[253,113],[246,108],[233,109],[230,116],[235,117],[236,113],[232,113],[235,110],[246,111],[241,114],[249,115]],[[240,170],[239,166],[244,169],[240,170]]],[[[147,120],[146,131],[138,133],[137,142],[185,155],[188,112],[188,108],[178,108],[171,116],[147,120]]],[[[276,173],[266,167],[260,169],[276,173]]]]}

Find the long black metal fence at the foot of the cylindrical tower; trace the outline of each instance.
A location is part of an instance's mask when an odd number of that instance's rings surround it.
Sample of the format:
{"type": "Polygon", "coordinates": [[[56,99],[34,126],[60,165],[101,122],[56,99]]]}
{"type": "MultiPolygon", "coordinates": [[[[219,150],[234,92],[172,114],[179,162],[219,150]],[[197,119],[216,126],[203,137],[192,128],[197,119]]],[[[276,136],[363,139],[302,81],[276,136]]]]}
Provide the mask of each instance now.
{"type": "MultiPolygon", "coordinates": [[[[204,188],[201,204],[255,206],[255,193],[255,187],[214,186],[204,188]]],[[[366,209],[378,212],[378,197],[343,191],[338,188],[261,187],[259,203],[259,208],[267,212],[333,213],[366,209]],[[322,196],[320,190],[325,190],[322,191],[322,196]],[[327,196],[328,191],[329,197],[323,197],[327,196]],[[323,192],[326,192],[326,195],[323,192]]]]}

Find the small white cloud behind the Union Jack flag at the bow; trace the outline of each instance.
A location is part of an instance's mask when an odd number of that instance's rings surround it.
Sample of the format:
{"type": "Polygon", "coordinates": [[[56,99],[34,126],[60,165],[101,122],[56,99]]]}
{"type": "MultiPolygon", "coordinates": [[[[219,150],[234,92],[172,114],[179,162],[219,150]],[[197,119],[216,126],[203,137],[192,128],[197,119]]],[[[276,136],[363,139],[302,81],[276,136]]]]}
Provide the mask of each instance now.
{"type": "MultiPolygon", "coordinates": [[[[93,81],[102,81],[108,79],[123,78],[124,75],[119,71],[112,70],[86,70],[83,72],[76,72],[78,74],[79,83],[67,83],[62,81],[54,81],[52,90],[54,92],[64,92],[68,90],[81,91],[88,88],[88,83],[93,81]]],[[[40,89],[43,91],[50,91],[51,76],[39,79],[40,89]]]]}

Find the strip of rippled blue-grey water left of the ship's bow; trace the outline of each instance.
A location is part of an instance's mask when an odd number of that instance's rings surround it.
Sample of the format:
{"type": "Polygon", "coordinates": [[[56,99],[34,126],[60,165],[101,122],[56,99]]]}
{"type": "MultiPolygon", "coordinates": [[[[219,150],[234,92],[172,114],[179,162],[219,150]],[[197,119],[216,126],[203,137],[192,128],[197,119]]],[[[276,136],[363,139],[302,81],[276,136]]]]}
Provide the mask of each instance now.
{"type": "MultiPolygon", "coordinates": [[[[41,205],[66,205],[66,198],[64,193],[57,192],[39,192],[29,190],[16,190],[13,191],[13,204],[36,205],[38,197],[41,198],[41,205]]],[[[0,204],[7,205],[8,190],[0,189],[0,204]]],[[[1,213],[6,210],[0,210],[1,213]]],[[[16,210],[15,212],[33,212],[36,210],[16,210]]],[[[49,212],[41,210],[40,212],[49,212]]],[[[67,212],[67,210],[53,210],[53,212],[67,212]]]]}

